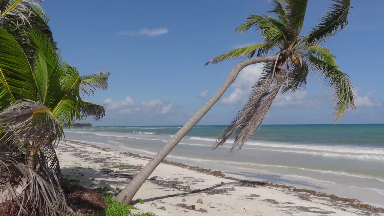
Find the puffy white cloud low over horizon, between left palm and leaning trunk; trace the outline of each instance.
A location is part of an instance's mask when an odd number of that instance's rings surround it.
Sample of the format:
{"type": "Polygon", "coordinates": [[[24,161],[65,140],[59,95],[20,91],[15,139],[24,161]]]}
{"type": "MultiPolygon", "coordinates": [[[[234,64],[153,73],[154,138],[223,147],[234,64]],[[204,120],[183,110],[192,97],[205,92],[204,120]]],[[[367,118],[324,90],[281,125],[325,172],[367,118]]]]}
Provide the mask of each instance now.
{"type": "Polygon", "coordinates": [[[104,103],[107,110],[111,110],[119,114],[150,116],[153,114],[167,114],[174,111],[172,103],[161,99],[134,103],[132,98],[127,96],[122,101],[116,101],[108,98],[104,100],[104,103]]]}

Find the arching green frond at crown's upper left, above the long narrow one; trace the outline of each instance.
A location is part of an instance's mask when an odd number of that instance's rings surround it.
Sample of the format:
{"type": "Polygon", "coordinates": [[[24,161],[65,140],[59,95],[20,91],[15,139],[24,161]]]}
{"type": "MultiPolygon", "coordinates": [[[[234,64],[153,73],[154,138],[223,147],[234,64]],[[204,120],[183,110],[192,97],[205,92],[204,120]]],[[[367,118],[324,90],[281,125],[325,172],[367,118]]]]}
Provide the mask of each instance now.
{"type": "Polygon", "coordinates": [[[286,40],[283,30],[278,28],[278,26],[274,25],[266,18],[257,14],[250,14],[247,19],[248,21],[236,28],[235,32],[243,33],[249,28],[254,27],[257,31],[260,30],[260,34],[266,42],[278,43],[281,40],[286,40]]]}

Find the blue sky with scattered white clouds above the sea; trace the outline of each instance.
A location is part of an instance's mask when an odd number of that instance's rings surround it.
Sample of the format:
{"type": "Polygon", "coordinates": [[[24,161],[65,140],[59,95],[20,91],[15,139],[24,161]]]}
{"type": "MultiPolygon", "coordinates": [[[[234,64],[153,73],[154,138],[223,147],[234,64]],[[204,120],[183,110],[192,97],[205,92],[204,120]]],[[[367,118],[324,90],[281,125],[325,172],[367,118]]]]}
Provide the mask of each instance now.
{"type": "MultiPolygon", "coordinates": [[[[262,43],[254,29],[234,30],[248,14],[270,10],[268,0],[46,0],[63,60],[81,75],[111,71],[108,90],[84,100],[105,105],[94,126],[184,125],[214,95],[241,60],[204,66],[234,48],[262,43]]],[[[309,0],[303,34],[315,27],[329,0],[309,0]]],[[[384,123],[382,0],[351,0],[346,30],[330,38],[339,68],[354,86],[358,110],[338,123],[384,123]]],[[[228,125],[245,105],[260,65],[244,68],[198,125],[228,125]]],[[[316,80],[278,95],[263,124],[333,124],[331,94],[316,80]]]]}

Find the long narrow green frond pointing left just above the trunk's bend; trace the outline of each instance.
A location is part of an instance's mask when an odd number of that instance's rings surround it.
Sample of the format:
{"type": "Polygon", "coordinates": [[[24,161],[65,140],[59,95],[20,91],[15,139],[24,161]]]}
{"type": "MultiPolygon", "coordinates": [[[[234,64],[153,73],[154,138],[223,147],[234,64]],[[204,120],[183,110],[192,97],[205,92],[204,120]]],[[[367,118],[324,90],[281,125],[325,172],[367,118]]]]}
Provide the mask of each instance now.
{"type": "Polygon", "coordinates": [[[209,65],[210,63],[215,64],[215,63],[220,63],[224,60],[227,59],[237,59],[237,58],[252,58],[253,55],[255,55],[257,50],[265,48],[265,51],[269,51],[269,49],[266,49],[266,47],[273,47],[273,44],[271,43],[261,43],[261,44],[255,44],[255,45],[250,45],[247,47],[241,47],[237,48],[235,50],[232,50],[230,52],[224,53],[223,55],[219,55],[215,58],[212,58],[211,60],[207,61],[205,65],[209,65]]]}

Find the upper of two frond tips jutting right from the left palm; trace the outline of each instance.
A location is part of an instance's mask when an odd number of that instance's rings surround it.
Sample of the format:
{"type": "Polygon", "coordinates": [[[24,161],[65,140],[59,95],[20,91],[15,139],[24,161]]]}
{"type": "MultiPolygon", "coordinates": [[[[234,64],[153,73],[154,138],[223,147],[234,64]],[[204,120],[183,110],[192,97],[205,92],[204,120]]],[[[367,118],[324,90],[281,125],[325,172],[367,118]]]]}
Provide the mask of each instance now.
{"type": "Polygon", "coordinates": [[[106,90],[108,88],[109,71],[99,71],[90,75],[80,77],[80,92],[82,95],[94,95],[96,88],[106,90]]]}

